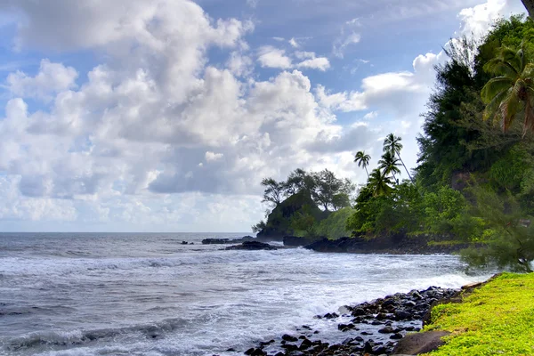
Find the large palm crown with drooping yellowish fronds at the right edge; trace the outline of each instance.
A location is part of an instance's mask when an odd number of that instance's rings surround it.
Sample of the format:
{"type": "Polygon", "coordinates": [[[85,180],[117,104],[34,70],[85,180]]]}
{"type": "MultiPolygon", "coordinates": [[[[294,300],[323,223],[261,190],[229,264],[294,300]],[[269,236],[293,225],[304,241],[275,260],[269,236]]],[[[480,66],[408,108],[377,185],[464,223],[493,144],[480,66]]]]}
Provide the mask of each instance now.
{"type": "Polygon", "coordinates": [[[498,77],[482,88],[481,98],[486,104],[483,118],[500,121],[506,132],[515,118],[522,117],[523,135],[534,131],[534,64],[524,42],[518,50],[502,47],[484,69],[498,77]]]}

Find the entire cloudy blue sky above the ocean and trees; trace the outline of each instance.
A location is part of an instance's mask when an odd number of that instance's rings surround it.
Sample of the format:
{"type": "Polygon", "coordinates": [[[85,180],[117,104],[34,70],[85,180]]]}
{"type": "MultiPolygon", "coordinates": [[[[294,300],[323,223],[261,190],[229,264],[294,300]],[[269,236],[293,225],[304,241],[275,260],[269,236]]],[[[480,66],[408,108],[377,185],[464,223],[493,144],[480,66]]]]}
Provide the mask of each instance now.
{"type": "MultiPolygon", "coordinates": [[[[0,231],[250,231],[263,177],[417,162],[450,38],[520,0],[0,0],[0,231]]],[[[403,176],[406,178],[406,174],[403,176]]]]}

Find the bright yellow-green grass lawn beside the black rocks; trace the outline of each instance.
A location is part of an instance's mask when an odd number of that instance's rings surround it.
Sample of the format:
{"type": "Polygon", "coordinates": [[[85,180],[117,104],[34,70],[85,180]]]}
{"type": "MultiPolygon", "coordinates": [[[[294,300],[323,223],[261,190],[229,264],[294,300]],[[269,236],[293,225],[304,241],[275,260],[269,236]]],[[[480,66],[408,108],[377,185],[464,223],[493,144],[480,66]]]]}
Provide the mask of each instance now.
{"type": "Polygon", "coordinates": [[[426,330],[452,333],[426,355],[534,355],[534,273],[504,273],[463,303],[434,307],[426,330]]]}

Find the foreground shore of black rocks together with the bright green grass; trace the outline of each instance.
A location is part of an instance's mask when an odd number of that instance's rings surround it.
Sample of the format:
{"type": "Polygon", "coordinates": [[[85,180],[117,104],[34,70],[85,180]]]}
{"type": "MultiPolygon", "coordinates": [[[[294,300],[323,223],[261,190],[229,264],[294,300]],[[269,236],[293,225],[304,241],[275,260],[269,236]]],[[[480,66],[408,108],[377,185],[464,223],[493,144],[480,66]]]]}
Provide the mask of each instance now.
{"type": "Polygon", "coordinates": [[[332,320],[343,343],[321,340],[306,325],[262,342],[253,356],[530,355],[534,275],[499,273],[459,289],[429,287],[386,295],[317,316],[332,320]],[[516,303],[520,303],[516,305],[516,303]],[[350,322],[346,323],[347,320],[350,322]]]}

